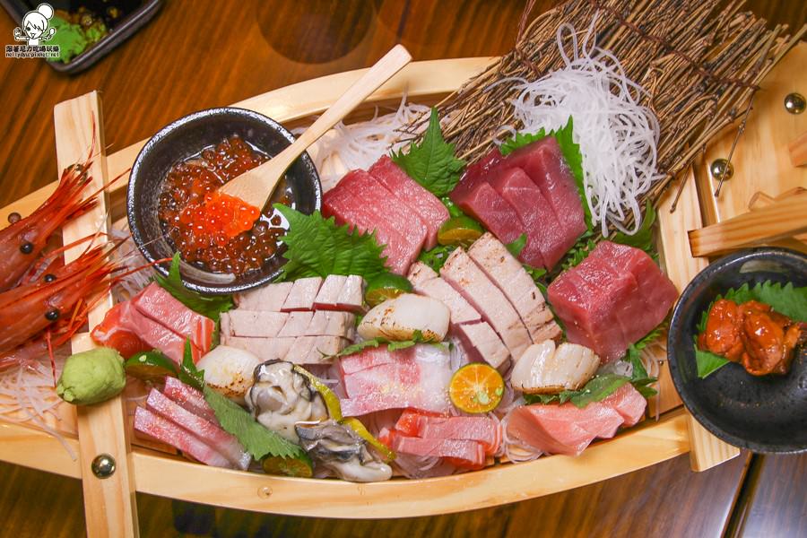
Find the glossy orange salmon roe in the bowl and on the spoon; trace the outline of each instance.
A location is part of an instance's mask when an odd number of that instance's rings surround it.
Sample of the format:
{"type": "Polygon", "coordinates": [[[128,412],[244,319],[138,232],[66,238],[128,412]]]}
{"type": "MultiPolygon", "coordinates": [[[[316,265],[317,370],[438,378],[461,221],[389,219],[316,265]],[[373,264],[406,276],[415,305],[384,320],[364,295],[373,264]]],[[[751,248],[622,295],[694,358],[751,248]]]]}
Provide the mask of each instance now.
{"type": "MultiPolygon", "coordinates": [[[[242,274],[263,267],[285,232],[282,218],[218,188],[267,157],[238,136],[205,148],[169,170],[159,198],[163,232],[187,263],[214,273],[242,274]]],[[[273,202],[290,204],[286,189],[273,202]]]]}

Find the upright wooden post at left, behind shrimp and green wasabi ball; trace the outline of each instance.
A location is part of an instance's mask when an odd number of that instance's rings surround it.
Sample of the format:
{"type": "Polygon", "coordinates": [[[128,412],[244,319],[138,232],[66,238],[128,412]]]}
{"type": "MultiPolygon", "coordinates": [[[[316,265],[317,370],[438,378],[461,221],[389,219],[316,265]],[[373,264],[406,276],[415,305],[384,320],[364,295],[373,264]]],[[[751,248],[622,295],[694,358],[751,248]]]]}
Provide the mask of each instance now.
{"type": "MultiPolygon", "coordinates": [[[[56,126],[56,161],[62,170],[86,161],[92,152],[89,170],[91,182],[87,192],[99,190],[107,182],[107,158],[103,134],[103,119],[97,91],[56,105],[53,111],[56,126]]],[[[98,231],[108,230],[107,194],[99,195],[99,203],[88,213],[65,224],[63,241],[70,243],[98,231]]],[[[65,263],[82,254],[85,245],[65,251],[65,263]]],[[[89,325],[100,323],[112,307],[112,295],[99,302],[89,313],[89,325]]],[[[94,347],[89,334],[74,336],[73,351],[94,347]]],[[[126,407],[117,396],[108,402],[78,406],[79,453],[84,493],[84,516],[87,535],[137,536],[137,509],[134,502],[134,472],[131,447],[126,440],[126,407]],[[97,478],[91,472],[96,456],[107,454],[115,460],[116,469],[108,478],[97,478]]]]}

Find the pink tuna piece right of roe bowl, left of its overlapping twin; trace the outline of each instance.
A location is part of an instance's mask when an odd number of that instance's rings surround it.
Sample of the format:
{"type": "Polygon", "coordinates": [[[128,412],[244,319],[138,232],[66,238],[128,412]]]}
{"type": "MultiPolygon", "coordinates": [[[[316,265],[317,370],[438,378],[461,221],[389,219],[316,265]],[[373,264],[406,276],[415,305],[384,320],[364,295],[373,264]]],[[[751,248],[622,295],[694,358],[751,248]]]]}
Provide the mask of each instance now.
{"type": "Polygon", "coordinates": [[[421,218],[395,199],[386,187],[363,170],[352,170],[323,196],[322,213],[360,231],[376,231],[386,245],[386,265],[405,274],[426,240],[421,218]]]}

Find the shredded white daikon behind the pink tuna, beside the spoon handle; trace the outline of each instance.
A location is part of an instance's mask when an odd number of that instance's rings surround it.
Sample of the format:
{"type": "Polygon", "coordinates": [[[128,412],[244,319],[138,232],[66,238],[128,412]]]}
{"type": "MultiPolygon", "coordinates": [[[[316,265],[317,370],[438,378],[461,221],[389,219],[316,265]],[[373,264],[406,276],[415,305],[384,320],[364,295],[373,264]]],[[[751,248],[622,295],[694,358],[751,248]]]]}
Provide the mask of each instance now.
{"type": "MultiPolygon", "coordinates": [[[[369,121],[344,125],[339,122],[308,149],[319,171],[324,191],[330,190],[351,169],[369,169],[379,157],[399,150],[408,142],[402,140],[401,128],[428,113],[429,107],[406,102],[406,95],[397,110],[375,116],[369,121]]],[[[423,126],[425,128],[425,125],[423,126]]],[[[299,134],[305,128],[295,129],[299,134]]]]}

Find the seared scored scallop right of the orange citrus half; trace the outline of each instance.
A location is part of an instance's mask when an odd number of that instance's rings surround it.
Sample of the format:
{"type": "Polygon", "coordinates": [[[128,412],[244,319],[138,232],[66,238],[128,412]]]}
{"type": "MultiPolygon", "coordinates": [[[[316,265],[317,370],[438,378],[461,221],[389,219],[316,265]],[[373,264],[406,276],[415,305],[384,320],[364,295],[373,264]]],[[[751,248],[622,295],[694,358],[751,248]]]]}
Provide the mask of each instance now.
{"type": "Polygon", "coordinates": [[[551,340],[528,347],[513,367],[510,382],[527,394],[553,394],[586,385],[600,366],[600,358],[577,343],[551,340]]]}

